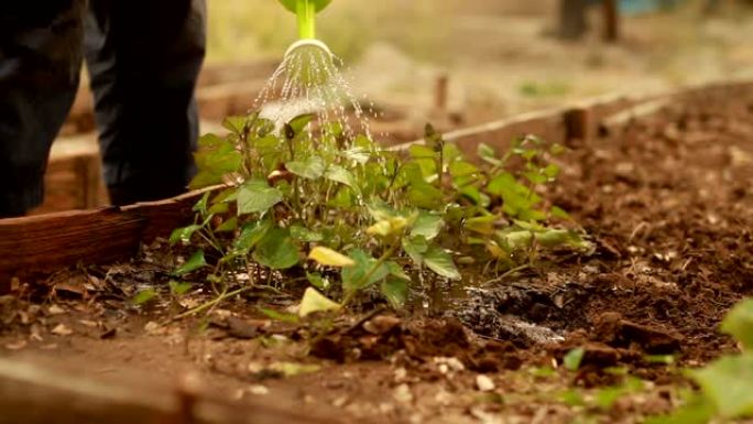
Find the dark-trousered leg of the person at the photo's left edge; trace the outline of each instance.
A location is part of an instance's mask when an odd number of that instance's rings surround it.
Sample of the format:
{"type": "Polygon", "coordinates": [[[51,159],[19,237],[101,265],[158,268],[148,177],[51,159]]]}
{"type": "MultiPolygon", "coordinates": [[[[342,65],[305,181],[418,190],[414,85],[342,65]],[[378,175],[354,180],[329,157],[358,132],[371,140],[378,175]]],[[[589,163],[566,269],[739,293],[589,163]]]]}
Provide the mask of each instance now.
{"type": "Polygon", "coordinates": [[[55,135],[76,97],[84,1],[0,2],[0,217],[42,203],[55,135]]]}

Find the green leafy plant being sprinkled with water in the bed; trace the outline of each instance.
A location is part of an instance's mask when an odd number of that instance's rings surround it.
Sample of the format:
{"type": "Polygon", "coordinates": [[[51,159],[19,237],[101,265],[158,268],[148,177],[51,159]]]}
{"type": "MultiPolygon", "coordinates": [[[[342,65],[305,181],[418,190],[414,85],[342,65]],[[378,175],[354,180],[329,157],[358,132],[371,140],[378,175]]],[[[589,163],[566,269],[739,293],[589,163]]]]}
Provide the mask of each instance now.
{"type": "Polygon", "coordinates": [[[546,224],[568,219],[539,195],[559,172],[559,145],[525,137],[498,155],[482,144],[479,165],[430,126],[424,143],[394,151],[314,118],[233,117],[226,135],[199,140],[192,186],[219,187],[171,237],[197,248],[176,275],[206,275],[221,297],[303,281],[316,289],[304,296],[309,314],[364,292],[399,307],[422,284],[461,280],[458,264],[492,278],[543,249],[590,248],[546,224]]]}

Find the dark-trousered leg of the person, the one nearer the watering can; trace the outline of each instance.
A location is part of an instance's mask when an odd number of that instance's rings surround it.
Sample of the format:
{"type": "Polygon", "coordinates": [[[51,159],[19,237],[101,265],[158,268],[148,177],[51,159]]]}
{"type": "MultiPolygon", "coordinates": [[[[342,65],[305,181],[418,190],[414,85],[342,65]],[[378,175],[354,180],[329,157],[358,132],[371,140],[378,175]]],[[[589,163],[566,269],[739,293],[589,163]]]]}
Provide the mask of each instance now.
{"type": "Polygon", "coordinates": [[[198,137],[204,0],[89,0],[86,61],[113,205],[185,192],[198,137]]]}

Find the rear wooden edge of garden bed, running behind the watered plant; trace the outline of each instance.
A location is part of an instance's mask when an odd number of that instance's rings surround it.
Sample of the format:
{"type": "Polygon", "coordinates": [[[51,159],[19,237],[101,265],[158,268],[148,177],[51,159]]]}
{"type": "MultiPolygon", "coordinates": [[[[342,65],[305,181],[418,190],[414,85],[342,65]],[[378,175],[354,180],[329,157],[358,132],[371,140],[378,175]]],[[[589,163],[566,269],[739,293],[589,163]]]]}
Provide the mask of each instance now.
{"type": "MultiPolygon", "coordinates": [[[[688,97],[709,96],[753,88],[753,81],[713,84],[676,93],[631,98],[612,96],[591,99],[565,108],[524,113],[519,117],[449,132],[470,156],[487,143],[504,145],[515,137],[533,133],[547,141],[567,144],[619,131],[631,120],[659,111],[688,97]]],[[[405,149],[421,141],[400,144],[405,149]]],[[[204,192],[142,203],[122,208],[74,210],[0,220],[0,294],[10,289],[17,274],[45,273],[77,263],[92,264],[127,260],[141,242],[166,237],[192,217],[192,206],[204,192]]]]}

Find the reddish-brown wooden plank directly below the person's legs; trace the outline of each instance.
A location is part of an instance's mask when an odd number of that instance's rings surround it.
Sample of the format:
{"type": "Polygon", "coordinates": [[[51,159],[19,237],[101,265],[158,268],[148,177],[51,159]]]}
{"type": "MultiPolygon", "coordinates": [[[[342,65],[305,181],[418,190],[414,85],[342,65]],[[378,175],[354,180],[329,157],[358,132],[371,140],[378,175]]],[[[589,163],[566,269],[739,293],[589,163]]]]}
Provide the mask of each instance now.
{"type": "MultiPolygon", "coordinates": [[[[209,188],[211,189],[211,188],[209,188]]],[[[0,219],[0,294],[13,275],[132,257],[142,241],[166,236],[193,217],[206,192],[127,207],[0,219]]]]}

